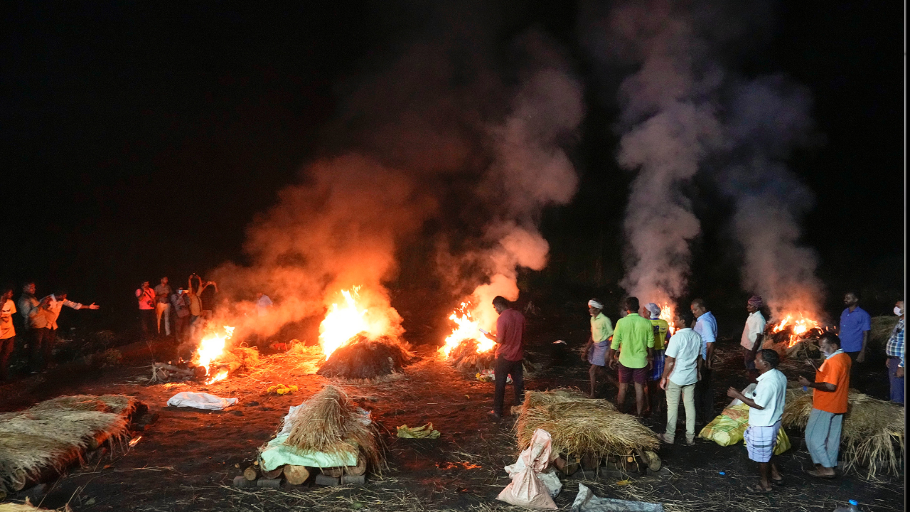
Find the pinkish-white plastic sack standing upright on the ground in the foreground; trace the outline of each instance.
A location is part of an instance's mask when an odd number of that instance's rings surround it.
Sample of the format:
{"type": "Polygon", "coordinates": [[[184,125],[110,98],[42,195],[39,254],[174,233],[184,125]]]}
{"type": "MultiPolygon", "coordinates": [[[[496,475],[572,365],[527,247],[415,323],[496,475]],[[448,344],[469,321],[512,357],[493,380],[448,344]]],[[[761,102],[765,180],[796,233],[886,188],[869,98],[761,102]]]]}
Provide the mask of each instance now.
{"type": "MultiPolygon", "coordinates": [[[[541,481],[538,473],[550,464],[552,439],[550,434],[538,428],[531,436],[531,445],[521,452],[519,460],[524,468],[512,473],[512,481],[496,497],[516,507],[556,509],[550,491],[541,481]]],[[[516,465],[518,461],[516,461],[516,465]]],[[[514,466],[507,466],[514,467],[514,466]]]]}

